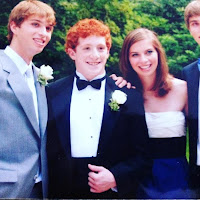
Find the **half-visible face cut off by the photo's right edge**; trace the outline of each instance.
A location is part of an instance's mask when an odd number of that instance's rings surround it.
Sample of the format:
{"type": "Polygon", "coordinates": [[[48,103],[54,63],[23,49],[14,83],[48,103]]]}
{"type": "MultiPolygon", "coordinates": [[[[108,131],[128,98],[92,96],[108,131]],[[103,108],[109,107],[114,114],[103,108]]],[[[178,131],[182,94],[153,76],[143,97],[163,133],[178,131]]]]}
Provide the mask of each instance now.
{"type": "Polygon", "coordinates": [[[195,41],[200,45],[200,16],[189,18],[189,31],[195,41]]]}

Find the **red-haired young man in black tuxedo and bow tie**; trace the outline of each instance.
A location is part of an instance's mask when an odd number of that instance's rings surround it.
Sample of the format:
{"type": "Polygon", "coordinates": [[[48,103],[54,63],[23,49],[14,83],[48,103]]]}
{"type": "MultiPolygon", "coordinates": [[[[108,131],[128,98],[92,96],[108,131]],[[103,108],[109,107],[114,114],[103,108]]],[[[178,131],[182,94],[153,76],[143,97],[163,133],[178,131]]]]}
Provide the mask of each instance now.
{"type": "Polygon", "coordinates": [[[134,198],[151,166],[142,95],[119,92],[123,102],[110,104],[119,90],[105,71],[110,48],[99,20],[80,20],[67,33],[76,72],[46,88],[49,198],[134,198]]]}

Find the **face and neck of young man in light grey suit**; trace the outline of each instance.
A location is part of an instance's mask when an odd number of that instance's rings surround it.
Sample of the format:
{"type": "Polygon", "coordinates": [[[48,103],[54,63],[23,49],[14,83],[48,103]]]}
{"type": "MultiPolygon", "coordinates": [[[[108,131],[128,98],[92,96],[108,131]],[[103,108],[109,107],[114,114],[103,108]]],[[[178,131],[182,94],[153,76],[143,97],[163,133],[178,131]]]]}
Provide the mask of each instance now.
{"type": "Polygon", "coordinates": [[[37,15],[28,17],[20,26],[11,22],[10,27],[13,32],[10,46],[28,64],[33,56],[42,52],[53,31],[53,26],[47,22],[46,17],[37,15]]]}

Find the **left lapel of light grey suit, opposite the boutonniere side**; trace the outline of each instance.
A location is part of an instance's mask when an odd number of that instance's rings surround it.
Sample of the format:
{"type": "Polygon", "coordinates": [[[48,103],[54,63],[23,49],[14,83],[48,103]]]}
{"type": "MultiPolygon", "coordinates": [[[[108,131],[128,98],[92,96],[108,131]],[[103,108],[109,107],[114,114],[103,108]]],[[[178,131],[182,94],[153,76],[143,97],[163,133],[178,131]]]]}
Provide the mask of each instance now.
{"type": "Polygon", "coordinates": [[[39,135],[40,131],[37,123],[37,118],[35,115],[35,109],[31,91],[24,77],[17,69],[17,66],[11,61],[11,59],[8,56],[5,55],[3,58],[4,58],[2,59],[3,69],[8,72],[8,78],[7,78],[8,83],[12,88],[15,96],[19,100],[19,103],[21,104],[34,130],[39,135]]]}

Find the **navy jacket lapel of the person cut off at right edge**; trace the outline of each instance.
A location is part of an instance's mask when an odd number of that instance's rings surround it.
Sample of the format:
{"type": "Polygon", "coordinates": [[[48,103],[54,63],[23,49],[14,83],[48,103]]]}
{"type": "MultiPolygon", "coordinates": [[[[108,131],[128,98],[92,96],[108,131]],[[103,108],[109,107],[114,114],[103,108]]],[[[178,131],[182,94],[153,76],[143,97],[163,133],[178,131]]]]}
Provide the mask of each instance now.
{"type": "Polygon", "coordinates": [[[191,117],[198,118],[198,94],[199,94],[199,70],[195,64],[189,71],[188,75],[188,94],[189,94],[189,108],[191,117]]]}

